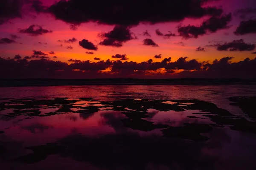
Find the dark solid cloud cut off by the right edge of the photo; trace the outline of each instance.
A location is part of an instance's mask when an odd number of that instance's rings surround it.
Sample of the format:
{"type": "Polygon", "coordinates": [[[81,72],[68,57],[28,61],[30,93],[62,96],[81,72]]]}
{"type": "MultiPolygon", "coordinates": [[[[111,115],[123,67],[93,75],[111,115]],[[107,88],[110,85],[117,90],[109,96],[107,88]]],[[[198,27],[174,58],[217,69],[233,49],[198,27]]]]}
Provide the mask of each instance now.
{"type": "Polygon", "coordinates": [[[241,21],[234,32],[236,35],[256,34],[256,19],[241,21]]]}

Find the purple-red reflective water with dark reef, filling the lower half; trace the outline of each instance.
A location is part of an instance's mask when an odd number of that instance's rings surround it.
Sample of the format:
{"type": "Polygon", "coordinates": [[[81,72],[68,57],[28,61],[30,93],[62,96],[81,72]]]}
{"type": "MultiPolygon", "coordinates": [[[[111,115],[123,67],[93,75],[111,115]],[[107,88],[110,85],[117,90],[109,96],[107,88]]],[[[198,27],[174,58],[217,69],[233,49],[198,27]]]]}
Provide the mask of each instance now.
{"type": "Polygon", "coordinates": [[[256,85],[0,88],[0,170],[256,169],[256,85]]]}

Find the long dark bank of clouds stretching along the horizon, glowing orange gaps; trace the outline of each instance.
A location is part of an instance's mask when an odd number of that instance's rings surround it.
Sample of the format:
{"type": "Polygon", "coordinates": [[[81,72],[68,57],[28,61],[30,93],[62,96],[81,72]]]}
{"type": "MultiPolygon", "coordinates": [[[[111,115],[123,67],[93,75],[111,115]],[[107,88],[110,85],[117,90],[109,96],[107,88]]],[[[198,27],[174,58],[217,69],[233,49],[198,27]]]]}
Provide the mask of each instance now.
{"type": "MultiPolygon", "coordinates": [[[[256,78],[256,58],[246,58],[240,62],[231,62],[233,57],[224,57],[220,60],[209,62],[198,62],[195,59],[187,60],[180,57],[172,62],[171,57],[161,62],[153,62],[149,59],[145,62],[123,62],[122,60],[90,62],[70,59],[71,64],[61,61],[52,61],[43,52],[35,51],[39,58],[24,57],[21,59],[16,55],[13,59],[0,58],[0,78],[256,78]],[[160,72],[159,69],[165,69],[160,72]],[[108,69],[108,71],[105,71],[108,69]],[[177,70],[178,73],[175,73],[177,70]],[[104,72],[102,72],[104,71],[104,72]],[[153,73],[152,73],[153,71],[153,73]]],[[[115,55],[116,56],[116,55],[115,55]]],[[[122,56],[122,55],[120,55],[122,56]]],[[[117,55],[117,58],[120,58],[117,55]]],[[[124,58],[124,57],[121,57],[124,58]]],[[[99,58],[94,58],[99,60],[99,58]]]]}

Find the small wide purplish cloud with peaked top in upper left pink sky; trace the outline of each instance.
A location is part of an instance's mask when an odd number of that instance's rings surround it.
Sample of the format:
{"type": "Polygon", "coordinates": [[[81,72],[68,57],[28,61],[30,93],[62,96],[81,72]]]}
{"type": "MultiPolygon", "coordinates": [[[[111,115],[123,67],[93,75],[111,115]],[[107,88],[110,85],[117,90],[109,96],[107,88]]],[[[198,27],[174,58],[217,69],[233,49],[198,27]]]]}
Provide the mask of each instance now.
{"type": "Polygon", "coordinates": [[[41,26],[38,25],[31,25],[29,28],[25,29],[18,29],[19,33],[28,34],[30,36],[38,36],[47,33],[52,33],[52,30],[43,29],[41,26]]]}

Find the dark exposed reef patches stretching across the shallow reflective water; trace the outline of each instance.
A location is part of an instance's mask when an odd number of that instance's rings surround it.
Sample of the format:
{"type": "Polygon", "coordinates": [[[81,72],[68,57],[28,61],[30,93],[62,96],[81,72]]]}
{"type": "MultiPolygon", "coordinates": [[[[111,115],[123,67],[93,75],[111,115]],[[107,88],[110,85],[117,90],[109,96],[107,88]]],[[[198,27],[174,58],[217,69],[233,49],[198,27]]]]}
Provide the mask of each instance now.
{"type": "MultiPolygon", "coordinates": [[[[253,115],[253,104],[256,97],[233,97],[229,98],[230,101],[236,102],[233,105],[238,105],[242,108],[245,113],[253,115]],[[251,108],[253,108],[251,110],[251,108]]],[[[17,116],[27,116],[23,119],[33,118],[34,116],[51,116],[56,114],[64,113],[79,113],[84,115],[82,117],[89,117],[85,115],[92,115],[98,111],[111,110],[120,111],[127,118],[122,119],[122,123],[125,127],[142,130],[151,131],[154,129],[164,129],[162,130],[163,135],[167,137],[177,137],[182,139],[191,139],[196,141],[207,140],[206,136],[202,136],[203,133],[200,128],[209,128],[209,126],[216,125],[223,127],[228,125],[233,130],[241,130],[244,132],[256,133],[256,123],[249,122],[247,119],[238,117],[230,113],[229,111],[218,108],[215,104],[210,102],[205,102],[197,99],[188,100],[149,100],[149,99],[123,99],[116,100],[113,102],[102,102],[97,101],[92,98],[79,98],[79,99],[69,99],[69,98],[54,98],[54,99],[10,99],[9,101],[4,101],[0,103],[0,111],[6,111],[6,113],[1,114],[1,119],[12,119],[17,116]],[[48,109],[49,111],[42,111],[48,109]],[[209,119],[212,123],[207,124],[180,124],[179,127],[172,127],[166,125],[165,123],[154,123],[145,118],[150,115],[148,113],[149,109],[155,109],[157,111],[200,111],[198,116],[187,116],[189,119],[209,119]],[[202,117],[203,116],[203,117],[202,117]],[[198,128],[200,127],[200,128],[198,128]]],[[[23,119],[19,119],[22,121],[23,119]]]]}

